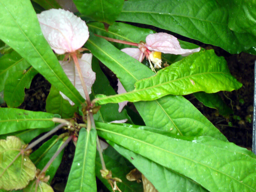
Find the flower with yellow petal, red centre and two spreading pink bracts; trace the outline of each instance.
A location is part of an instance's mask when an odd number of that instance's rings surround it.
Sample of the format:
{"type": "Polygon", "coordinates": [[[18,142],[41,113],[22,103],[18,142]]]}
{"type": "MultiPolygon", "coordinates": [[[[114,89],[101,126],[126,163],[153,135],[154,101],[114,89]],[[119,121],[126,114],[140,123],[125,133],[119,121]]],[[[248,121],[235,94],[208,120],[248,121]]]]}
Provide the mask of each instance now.
{"type": "Polygon", "coordinates": [[[161,53],[187,56],[194,52],[199,52],[200,49],[200,47],[196,49],[182,49],[180,47],[180,42],[175,36],[167,33],[154,33],[149,34],[146,37],[146,43],[139,43],[138,48],[124,48],[121,51],[127,53],[140,62],[146,56],[150,63],[150,68],[155,71],[154,68],[161,68],[161,53]],[[153,64],[155,64],[154,68],[151,61],[153,64]]]}

